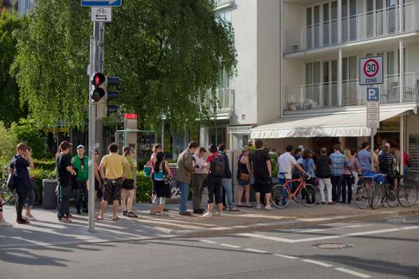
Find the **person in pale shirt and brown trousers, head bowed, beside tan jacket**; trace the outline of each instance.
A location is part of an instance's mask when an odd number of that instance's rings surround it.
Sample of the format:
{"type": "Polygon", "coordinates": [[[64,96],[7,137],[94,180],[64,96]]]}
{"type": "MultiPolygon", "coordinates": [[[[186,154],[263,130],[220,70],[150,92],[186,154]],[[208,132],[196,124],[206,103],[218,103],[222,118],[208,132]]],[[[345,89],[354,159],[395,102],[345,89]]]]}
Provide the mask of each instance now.
{"type": "Polygon", "coordinates": [[[205,178],[207,177],[207,168],[205,167],[204,155],[207,151],[205,148],[200,147],[196,153],[193,154],[193,160],[195,162],[196,172],[193,172],[191,176],[192,185],[192,206],[193,213],[203,214],[205,209],[200,207],[201,199],[203,196],[205,178]]]}

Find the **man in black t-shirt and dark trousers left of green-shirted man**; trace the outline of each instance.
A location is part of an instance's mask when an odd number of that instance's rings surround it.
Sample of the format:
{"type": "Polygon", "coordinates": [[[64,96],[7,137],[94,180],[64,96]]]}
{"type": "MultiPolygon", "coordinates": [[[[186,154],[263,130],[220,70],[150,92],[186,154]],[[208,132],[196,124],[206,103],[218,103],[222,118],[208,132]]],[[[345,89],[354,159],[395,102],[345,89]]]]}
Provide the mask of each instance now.
{"type": "Polygon", "coordinates": [[[70,153],[71,143],[64,141],[59,145],[59,156],[57,157],[57,180],[59,190],[58,220],[64,223],[70,222],[68,219],[70,211],[71,196],[71,175],[77,175],[71,166],[70,153]]]}

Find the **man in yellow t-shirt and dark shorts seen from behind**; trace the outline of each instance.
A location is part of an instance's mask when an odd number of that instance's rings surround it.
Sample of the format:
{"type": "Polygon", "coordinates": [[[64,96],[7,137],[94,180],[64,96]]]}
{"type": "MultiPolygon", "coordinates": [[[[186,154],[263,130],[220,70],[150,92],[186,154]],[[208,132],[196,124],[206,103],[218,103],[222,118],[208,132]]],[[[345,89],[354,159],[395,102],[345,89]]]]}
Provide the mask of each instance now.
{"type": "Polygon", "coordinates": [[[99,172],[101,172],[101,176],[103,177],[104,193],[101,203],[101,214],[96,219],[103,220],[106,206],[108,206],[108,202],[112,202],[112,220],[116,221],[119,219],[118,206],[119,200],[121,200],[122,183],[126,179],[126,176],[128,176],[128,170],[131,169],[131,166],[124,156],[117,153],[118,144],[115,144],[115,142],[110,144],[108,150],[109,154],[103,156],[101,165],[99,165],[99,172]],[[103,172],[103,168],[106,168],[106,173],[103,172]]]}

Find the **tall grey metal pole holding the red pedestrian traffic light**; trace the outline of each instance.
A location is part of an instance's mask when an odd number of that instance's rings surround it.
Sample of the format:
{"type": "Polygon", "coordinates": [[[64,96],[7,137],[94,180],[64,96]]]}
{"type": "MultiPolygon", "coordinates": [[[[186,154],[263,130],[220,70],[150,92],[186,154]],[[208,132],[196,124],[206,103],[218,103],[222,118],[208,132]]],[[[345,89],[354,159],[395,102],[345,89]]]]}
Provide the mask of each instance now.
{"type": "MultiPolygon", "coordinates": [[[[94,22],[93,36],[90,38],[90,77],[98,71],[98,35],[99,24],[94,22]]],[[[89,79],[90,79],[89,77],[89,79]]],[[[90,84],[90,91],[94,88],[90,84]]],[[[95,104],[89,93],[89,232],[96,232],[94,223],[94,150],[95,139],[95,104]]]]}

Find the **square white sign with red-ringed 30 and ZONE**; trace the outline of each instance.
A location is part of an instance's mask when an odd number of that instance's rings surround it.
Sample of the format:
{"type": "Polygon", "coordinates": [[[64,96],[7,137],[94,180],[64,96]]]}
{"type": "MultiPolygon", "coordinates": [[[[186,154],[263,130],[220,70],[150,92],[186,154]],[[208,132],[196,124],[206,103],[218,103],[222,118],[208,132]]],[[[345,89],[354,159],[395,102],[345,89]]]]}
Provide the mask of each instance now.
{"type": "Polygon", "coordinates": [[[360,59],[360,85],[383,83],[383,56],[360,59]]]}

